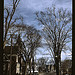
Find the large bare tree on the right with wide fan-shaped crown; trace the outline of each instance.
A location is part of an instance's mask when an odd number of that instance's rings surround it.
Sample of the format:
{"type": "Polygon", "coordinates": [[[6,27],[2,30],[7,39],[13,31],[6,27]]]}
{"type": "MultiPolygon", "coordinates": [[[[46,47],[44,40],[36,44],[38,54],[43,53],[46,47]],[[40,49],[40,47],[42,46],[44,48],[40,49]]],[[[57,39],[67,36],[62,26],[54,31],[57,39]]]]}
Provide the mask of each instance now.
{"type": "Polygon", "coordinates": [[[53,54],[56,73],[59,75],[61,51],[65,50],[66,44],[72,41],[72,14],[67,9],[56,9],[53,6],[47,8],[46,12],[36,12],[36,18],[43,25],[42,35],[53,54]]]}

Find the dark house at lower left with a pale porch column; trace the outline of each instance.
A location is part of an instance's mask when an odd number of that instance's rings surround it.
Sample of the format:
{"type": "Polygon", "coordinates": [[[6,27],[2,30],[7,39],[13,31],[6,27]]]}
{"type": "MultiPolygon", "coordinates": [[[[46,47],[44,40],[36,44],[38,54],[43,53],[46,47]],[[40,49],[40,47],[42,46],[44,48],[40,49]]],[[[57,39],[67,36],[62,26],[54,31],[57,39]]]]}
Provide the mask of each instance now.
{"type": "Polygon", "coordinates": [[[6,46],[4,49],[4,75],[22,75],[23,59],[18,55],[18,46],[6,46]]]}

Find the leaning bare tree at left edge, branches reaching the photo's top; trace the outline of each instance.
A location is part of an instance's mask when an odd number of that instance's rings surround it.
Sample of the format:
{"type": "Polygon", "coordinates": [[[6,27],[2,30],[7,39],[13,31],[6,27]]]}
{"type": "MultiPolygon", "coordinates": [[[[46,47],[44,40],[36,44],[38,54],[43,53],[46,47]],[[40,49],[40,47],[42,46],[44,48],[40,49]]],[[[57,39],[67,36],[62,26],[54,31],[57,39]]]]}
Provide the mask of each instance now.
{"type": "Polygon", "coordinates": [[[16,8],[19,4],[20,0],[13,0],[13,4],[12,7],[9,8],[4,8],[4,35],[3,35],[3,48],[5,48],[6,45],[6,39],[7,39],[7,34],[9,29],[11,29],[12,27],[16,26],[16,22],[18,20],[23,20],[23,17],[16,17],[14,18],[14,14],[16,11],[16,8]],[[14,18],[14,19],[13,19],[14,18]]]}

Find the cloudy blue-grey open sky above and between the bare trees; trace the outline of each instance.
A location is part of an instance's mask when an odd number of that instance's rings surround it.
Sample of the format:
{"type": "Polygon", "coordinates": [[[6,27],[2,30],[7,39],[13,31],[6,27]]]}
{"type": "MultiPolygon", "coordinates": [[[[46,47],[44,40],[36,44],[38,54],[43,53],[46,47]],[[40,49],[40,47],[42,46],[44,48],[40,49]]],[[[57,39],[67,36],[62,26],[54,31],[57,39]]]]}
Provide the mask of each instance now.
{"type": "MultiPolygon", "coordinates": [[[[11,7],[10,1],[12,0],[4,0],[4,6],[11,7]]],[[[16,9],[16,13],[17,16],[23,16],[25,24],[34,25],[40,30],[41,27],[38,26],[38,22],[35,20],[36,15],[34,13],[36,11],[45,11],[45,9],[51,7],[52,4],[55,4],[56,8],[63,7],[72,12],[72,0],[21,0],[16,9]]],[[[65,53],[62,53],[62,60],[66,57],[65,53]]]]}

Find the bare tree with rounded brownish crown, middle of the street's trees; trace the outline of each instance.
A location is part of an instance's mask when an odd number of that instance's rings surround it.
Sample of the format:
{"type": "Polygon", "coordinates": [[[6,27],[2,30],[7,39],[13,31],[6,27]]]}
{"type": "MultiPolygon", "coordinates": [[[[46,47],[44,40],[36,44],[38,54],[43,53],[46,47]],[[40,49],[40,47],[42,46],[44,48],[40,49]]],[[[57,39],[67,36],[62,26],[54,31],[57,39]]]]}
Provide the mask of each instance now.
{"type": "MultiPolygon", "coordinates": [[[[29,56],[30,56],[30,68],[32,67],[33,69],[33,74],[34,74],[34,53],[38,47],[40,47],[41,43],[41,36],[38,33],[38,30],[36,30],[34,27],[28,27],[27,29],[27,34],[25,35],[25,43],[27,47],[29,48],[29,56]]],[[[30,69],[31,71],[31,69],[30,69]]]]}

